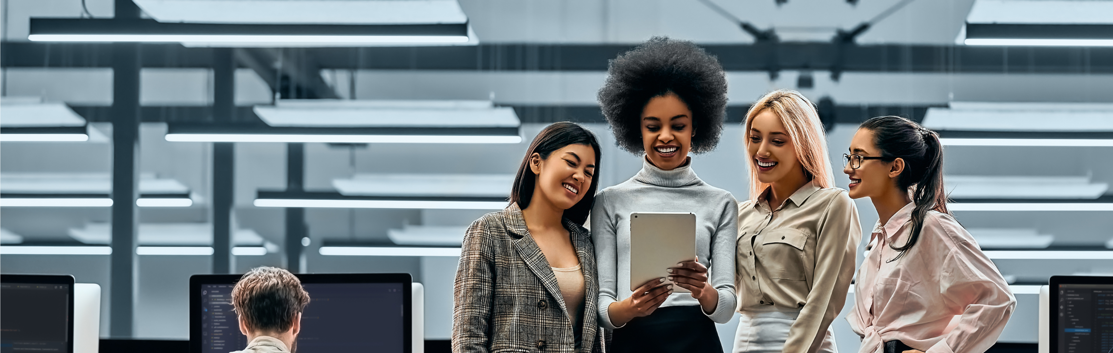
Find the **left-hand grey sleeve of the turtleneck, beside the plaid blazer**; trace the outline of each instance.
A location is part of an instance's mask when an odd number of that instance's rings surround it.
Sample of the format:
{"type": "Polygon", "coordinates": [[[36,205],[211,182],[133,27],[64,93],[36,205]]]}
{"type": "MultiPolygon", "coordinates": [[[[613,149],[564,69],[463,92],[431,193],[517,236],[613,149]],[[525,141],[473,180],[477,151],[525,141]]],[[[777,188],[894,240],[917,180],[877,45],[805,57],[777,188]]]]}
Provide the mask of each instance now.
{"type": "Polygon", "coordinates": [[[591,209],[591,239],[595,246],[595,267],[599,269],[599,324],[614,330],[610,306],[618,302],[618,236],[614,219],[607,207],[607,193],[595,195],[591,209]]]}

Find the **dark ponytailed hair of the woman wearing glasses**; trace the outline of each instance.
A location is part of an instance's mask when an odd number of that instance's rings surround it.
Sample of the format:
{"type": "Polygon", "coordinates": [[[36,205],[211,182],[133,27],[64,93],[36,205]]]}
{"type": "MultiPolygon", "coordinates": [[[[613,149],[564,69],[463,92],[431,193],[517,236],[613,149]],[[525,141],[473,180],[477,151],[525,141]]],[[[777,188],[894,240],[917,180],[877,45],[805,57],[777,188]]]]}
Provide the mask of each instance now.
{"type": "Polygon", "coordinates": [[[889,244],[890,248],[904,255],[919,239],[928,210],[951,214],[947,210],[947,195],[943,187],[943,144],[939,143],[939,135],[935,131],[902,117],[876,117],[866,120],[859,127],[874,131],[874,146],[880,150],[881,157],[904,159],[905,168],[897,176],[897,187],[900,189],[915,187],[912,197],[913,204],[916,205],[912,210],[912,235],[904,246],[896,247],[889,244]]]}

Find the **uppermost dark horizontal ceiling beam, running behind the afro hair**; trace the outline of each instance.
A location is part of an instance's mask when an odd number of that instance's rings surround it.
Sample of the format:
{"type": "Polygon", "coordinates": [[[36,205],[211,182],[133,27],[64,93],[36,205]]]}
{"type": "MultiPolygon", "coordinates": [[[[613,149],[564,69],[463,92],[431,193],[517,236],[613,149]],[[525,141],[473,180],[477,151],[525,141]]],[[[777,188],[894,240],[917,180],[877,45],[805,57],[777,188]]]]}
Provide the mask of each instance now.
{"type": "MultiPolygon", "coordinates": [[[[3,42],[3,67],[111,67],[111,45],[3,42]]],[[[633,45],[297,48],[323,69],[605,71],[633,45]]],[[[1113,47],[988,47],[778,42],[702,46],[730,71],[1113,73],[1113,47]],[[841,51],[840,51],[841,50],[841,51]],[[843,63],[838,59],[843,59],[843,63]]],[[[213,67],[214,48],[140,46],[144,67],[213,67]]],[[[266,63],[266,60],[262,62],[266,63]]],[[[285,66],[285,65],[284,65],[285,66]]],[[[306,66],[302,66],[306,67],[306,66]]]]}

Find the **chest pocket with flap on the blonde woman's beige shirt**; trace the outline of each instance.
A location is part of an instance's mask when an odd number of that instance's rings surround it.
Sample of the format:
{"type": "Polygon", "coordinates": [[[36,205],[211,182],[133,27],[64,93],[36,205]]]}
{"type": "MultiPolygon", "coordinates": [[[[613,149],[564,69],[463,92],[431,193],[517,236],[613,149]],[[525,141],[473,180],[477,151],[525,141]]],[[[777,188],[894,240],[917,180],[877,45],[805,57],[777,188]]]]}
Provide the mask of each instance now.
{"type": "Polygon", "coordinates": [[[804,247],[808,235],[799,229],[781,228],[766,232],[761,236],[761,266],[772,280],[805,280],[807,269],[804,247]]]}

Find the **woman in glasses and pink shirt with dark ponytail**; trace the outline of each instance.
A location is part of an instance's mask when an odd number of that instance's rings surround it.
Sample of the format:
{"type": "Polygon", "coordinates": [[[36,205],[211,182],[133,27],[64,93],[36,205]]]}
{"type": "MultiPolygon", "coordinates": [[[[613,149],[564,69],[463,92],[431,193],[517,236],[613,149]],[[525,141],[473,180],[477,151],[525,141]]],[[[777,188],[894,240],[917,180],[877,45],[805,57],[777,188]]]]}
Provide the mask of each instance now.
{"type": "Polygon", "coordinates": [[[943,146],[902,117],[863,122],[844,156],[850,197],[879,219],[847,315],[861,353],[981,353],[1016,298],[974,237],[947,210],[943,146]]]}

